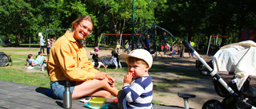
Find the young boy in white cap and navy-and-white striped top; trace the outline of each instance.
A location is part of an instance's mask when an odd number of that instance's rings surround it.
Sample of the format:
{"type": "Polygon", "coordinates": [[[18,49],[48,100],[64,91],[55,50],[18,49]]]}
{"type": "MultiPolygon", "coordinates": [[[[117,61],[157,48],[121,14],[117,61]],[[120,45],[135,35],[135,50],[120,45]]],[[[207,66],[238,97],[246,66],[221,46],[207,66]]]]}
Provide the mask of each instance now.
{"type": "Polygon", "coordinates": [[[120,56],[126,59],[128,73],[122,90],[118,92],[118,107],[151,109],[153,84],[148,72],[153,63],[151,54],[145,49],[135,49],[120,56]]]}

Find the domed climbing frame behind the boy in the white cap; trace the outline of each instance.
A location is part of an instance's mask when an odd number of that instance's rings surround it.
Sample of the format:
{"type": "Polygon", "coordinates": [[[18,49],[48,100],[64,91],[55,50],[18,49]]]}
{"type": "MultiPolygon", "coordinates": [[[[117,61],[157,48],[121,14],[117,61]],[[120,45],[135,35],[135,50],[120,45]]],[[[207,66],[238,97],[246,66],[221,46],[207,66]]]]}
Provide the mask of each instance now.
{"type": "Polygon", "coordinates": [[[156,25],[155,23],[150,27],[146,27],[146,25],[143,25],[135,32],[135,34],[141,35],[139,35],[139,37],[134,38],[134,41],[137,40],[136,43],[134,44],[134,49],[139,49],[139,45],[143,45],[143,41],[145,40],[146,35],[149,34],[152,49],[150,50],[152,51],[150,53],[154,54],[155,57],[158,54],[162,56],[162,54],[160,53],[161,51],[163,51],[164,55],[182,54],[183,50],[181,49],[181,44],[178,43],[178,37],[174,37],[169,31],[156,25]],[[175,50],[175,53],[173,50],[175,50]]]}

